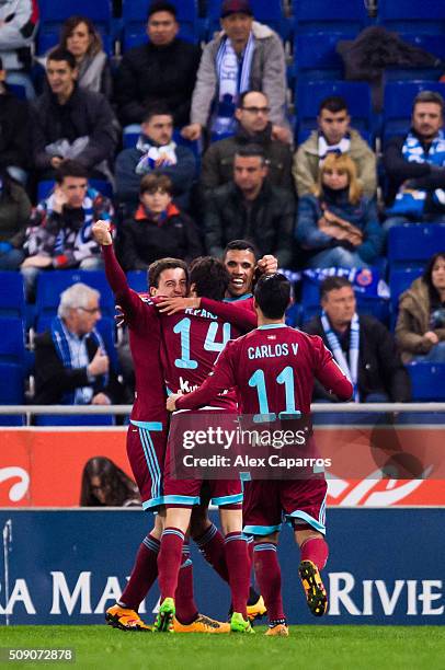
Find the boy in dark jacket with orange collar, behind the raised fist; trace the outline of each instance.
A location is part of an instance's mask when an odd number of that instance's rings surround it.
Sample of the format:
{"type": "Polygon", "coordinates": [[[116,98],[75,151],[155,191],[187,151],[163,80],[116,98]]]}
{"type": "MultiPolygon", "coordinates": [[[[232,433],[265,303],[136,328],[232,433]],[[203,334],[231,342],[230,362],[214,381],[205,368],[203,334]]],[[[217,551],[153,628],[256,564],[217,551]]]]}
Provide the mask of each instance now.
{"type": "Polygon", "coordinates": [[[173,185],[164,174],[148,174],[140,183],[140,204],[121,227],[121,262],[125,270],[147,270],[170,256],[187,263],[203,247],[195,222],[172,203],[173,185]]]}

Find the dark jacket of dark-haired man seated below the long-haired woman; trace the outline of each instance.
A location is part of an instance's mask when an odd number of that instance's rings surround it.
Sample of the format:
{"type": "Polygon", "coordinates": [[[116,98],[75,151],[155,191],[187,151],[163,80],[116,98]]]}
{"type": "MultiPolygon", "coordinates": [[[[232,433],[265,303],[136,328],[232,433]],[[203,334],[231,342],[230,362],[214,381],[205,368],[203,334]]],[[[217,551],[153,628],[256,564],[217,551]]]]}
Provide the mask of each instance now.
{"type": "Polygon", "coordinates": [[[71,97],[60,105],[50,92],[43,93],[35,103],[33,115],[33,153],[38,170],[52,168],[52,155],[45,147],[61,138],[70,143],[79,137],[89,143],[77,157],[85,168],[111,161],[118,139],[118,125],[109,101],[102,93],[75,88],[71,97]]]}

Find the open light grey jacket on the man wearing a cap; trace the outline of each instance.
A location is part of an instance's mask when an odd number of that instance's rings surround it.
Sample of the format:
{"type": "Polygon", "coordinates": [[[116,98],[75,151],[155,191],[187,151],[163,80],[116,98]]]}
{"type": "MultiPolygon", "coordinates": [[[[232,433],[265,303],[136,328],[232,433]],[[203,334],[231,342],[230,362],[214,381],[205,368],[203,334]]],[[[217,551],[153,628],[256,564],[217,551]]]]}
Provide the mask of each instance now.
{"type": "MultiPolygon", "coordinates": [[[[249,91],[264,93],[271,106],[272,123],[278,126],[286,125],[286,63],[283,43],[274,31],[256,21],[252,24],[252,33],[255,44],[249,91]]],[[[212,103],[219,96],[216,56],[225,37],[226,33],[221,31],[204,48],[192,97],[192,124],[206,127],[212,103]]]]}

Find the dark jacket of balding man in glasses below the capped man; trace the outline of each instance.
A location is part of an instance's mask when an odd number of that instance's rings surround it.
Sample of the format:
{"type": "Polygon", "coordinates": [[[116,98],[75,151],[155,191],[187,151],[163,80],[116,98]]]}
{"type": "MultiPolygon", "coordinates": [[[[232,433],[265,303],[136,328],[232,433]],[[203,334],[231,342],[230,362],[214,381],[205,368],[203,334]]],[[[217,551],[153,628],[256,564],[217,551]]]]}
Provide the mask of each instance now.
{"type": "Polygon", "coordinates": [[[249,135],[242,126],[233,137],[214,142],[203,158],[201,169],[201,187],[216,188],[227,184],[233,178],[233,159],[239,149],[249,145],[263,147],[267,159],[267,178],[274,186],[294,190],[292,178],[292,150],[289,145],[284,145],[272,139],[272,125],[262,132],[249,135]]]}

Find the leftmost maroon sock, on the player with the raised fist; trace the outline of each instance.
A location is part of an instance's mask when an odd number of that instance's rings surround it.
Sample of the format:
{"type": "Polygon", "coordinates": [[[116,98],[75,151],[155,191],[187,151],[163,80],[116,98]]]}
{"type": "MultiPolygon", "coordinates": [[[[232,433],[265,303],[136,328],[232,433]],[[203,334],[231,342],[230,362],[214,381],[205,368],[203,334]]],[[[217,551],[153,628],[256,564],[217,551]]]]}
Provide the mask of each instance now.
{"type": "Polygon", "coordinates": [[[140,603],[158,577],[159,547],[159,540],[150,534],[142,540],[136,554],[132,576],[118,600],[123,608],[138,611],[140,603]]]}

